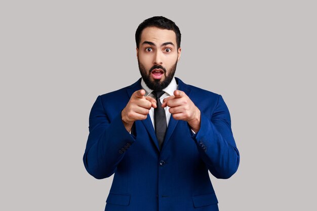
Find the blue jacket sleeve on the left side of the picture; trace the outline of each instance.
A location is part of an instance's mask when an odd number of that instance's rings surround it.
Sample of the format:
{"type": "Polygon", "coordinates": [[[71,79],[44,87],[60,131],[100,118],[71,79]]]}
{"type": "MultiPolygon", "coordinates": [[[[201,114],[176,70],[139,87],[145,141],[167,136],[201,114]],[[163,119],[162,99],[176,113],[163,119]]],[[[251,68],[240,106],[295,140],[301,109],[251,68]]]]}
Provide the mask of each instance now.
{"type": "Polygon", "coordinates": [[[122,122],[121,112],[110,121],[98,96],[89,116],[89,136],[83,157],[87,172],[97,179],[110,177],[134,142],[135,137],[122,122]]]}

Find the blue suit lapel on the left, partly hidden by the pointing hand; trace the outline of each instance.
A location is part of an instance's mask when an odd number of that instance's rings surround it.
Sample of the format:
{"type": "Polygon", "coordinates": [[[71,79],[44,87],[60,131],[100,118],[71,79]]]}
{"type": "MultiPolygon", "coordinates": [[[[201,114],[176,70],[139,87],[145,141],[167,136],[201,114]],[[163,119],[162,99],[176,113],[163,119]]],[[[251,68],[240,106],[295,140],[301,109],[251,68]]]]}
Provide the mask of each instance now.
{"type": "MultiPolygon", "coordinates": [[[[127,92],[128,92],[128,95],[129,95],[129,99],[131,98],[132,94],[135,91],[140,90],[140,89],[142,89],[142,87],[141,87],[141,78],[137,82],[135,82],[133,85],[128,87],[127,92]]],[[[147,118],[144,119],[144,120],[141,120],[141,122],[143,123],[143,125],[144,125],[146,131],[148,132],[148,134],[150,135],[151,140],[153,141],[153,143],[156,146],[157,150],[160,151],[159,142],[157,141],[156,134],[155,134],[155,131],[154,131],[154,128],[153,128],[153,124],[152,124],[150,115],[147,114],[147,118]]]]}

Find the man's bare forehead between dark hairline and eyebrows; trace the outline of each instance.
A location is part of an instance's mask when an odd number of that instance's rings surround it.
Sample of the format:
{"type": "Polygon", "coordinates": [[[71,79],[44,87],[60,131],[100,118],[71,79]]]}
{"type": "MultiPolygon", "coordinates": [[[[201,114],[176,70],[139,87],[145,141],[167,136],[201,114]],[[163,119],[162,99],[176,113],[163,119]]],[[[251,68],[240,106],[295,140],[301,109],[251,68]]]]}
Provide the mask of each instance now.
{"type": "Polygon", "coordinates": [[[172,42],[176,46],[176,34],[173,30],[161,29],[157,27],[146,27],[141,33],[141,45],[143,41],[151,41],[154,44],[172,42]]]}

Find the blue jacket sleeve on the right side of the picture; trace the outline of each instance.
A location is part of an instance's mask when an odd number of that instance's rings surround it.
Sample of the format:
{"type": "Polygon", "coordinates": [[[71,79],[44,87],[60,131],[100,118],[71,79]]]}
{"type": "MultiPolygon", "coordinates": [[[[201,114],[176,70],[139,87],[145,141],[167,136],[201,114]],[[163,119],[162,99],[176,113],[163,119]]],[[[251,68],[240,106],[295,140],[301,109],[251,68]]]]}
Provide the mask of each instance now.
{"type": "Polygon", "coordinates": [[[232,135],[229,110],[221,95],[212,116],[201,112],[201,128],[192,138],[213,176],[227,179],[237,171],[240,154],[232,135]]]}

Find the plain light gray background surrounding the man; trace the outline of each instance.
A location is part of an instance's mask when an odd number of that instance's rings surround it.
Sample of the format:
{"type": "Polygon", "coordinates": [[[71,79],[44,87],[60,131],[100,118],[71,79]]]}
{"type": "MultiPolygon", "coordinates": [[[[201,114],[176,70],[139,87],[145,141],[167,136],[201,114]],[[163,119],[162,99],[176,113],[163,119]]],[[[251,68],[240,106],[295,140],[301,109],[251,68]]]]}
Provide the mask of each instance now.
{"type": "Polygon", "coordinates": [[[98,95],[139,77],[134,33],[182,33],[176,76],[221,94],[241,152],[220,210],[316,210],[315,1],[1,1],[1,210],[103,210],[82,161],[98,95]]]}

